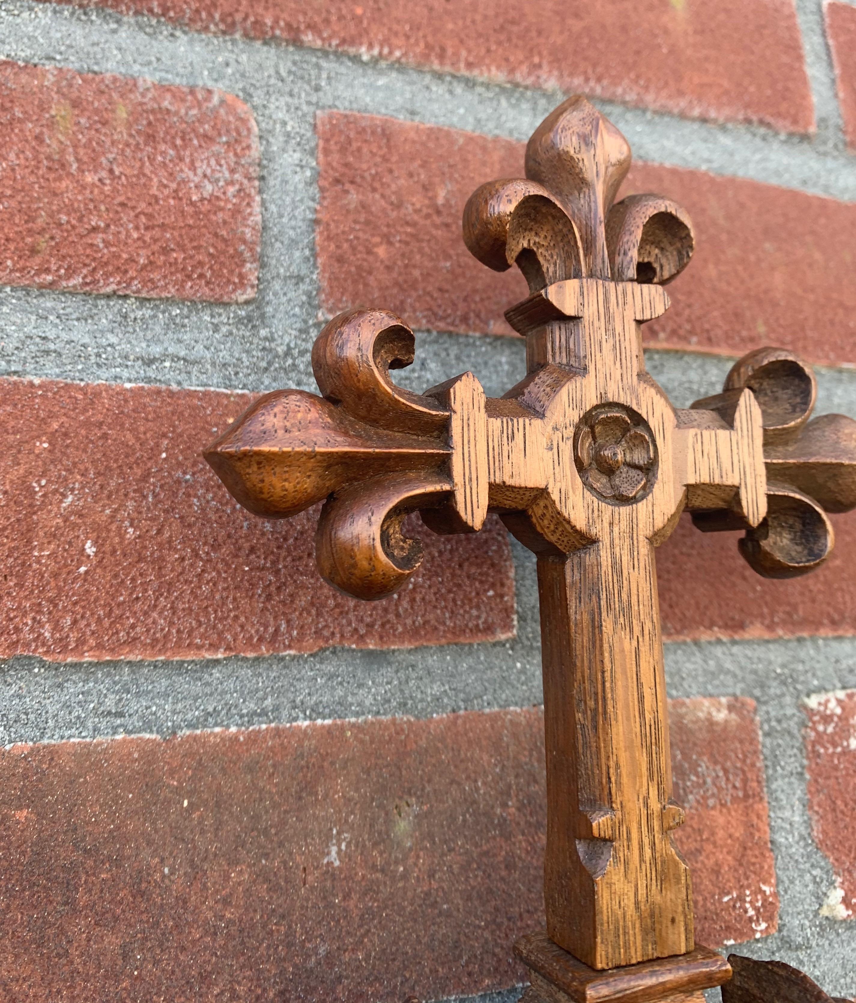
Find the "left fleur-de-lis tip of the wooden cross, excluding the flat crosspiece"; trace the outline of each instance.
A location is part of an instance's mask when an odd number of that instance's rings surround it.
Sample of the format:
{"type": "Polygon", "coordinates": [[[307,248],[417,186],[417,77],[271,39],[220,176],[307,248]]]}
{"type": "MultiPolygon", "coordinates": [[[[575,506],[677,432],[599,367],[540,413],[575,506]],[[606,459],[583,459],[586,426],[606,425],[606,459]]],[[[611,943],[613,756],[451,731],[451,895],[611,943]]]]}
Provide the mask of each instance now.
{"type": "Polygon", "coordinates": [[[341,314],[313,350],[324,397],[266,394],[203,453],[258,516],[284,519],[324,501],[319,569],[360,599],[388,596],[419,567],[420,544],[402,532],[408,513],[456,500],[458,394],[452,389],[444,404],[397,387],[390,369],[413,356],[413,333],[395,314],[341,314]]]}

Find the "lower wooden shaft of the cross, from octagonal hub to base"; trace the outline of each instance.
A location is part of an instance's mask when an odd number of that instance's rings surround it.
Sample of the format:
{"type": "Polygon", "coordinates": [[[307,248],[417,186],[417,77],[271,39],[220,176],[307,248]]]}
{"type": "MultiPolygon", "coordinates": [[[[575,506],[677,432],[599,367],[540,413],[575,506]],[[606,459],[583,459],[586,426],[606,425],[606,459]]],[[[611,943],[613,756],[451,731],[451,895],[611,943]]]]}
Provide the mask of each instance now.
{"type": "Polygon", "coordinates": [[[547,932],[592,968],[685,954],[691,883],[670,837],[684,817],[672,797],[653,545],[606,536],[539,557],[538,597],[547,932]]]}

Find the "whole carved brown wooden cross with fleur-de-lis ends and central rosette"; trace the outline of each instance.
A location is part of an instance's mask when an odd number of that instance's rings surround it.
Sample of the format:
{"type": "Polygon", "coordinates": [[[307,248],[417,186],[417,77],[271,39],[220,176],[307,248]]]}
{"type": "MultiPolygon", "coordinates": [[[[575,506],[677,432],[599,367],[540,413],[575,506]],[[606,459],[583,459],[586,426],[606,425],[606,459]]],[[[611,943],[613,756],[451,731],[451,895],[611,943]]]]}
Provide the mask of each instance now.
{"type": "Polygon", "coordinates": [[[571,998],[573,972],[602,981],[616,966],[661,972],[667,995],[728,977],[695,948],[690,875],[671,838],[684,812],[654,548],[688,509],[703,530],[744,529],[741,553],[760,574],[798,575],[832,547],[824,508],[856,504],[856,423],[806,424],[814,376],[791,353],[748,355],[690,410],[646,372],[640,325],[668,309],[663,286],[694,238],[666,199],[612,204],[629,163],[617,129],[572,97],[529,140],[525,180],[469,200],[470,251],[497,271],[516,264],[529,284],[506,314],[526,338],[527,375],[503,397],[487,398],[472,373],[424,395],[400,389],[390,370],[412,362],[413,334],[386,311],[352,310],[313,349],[323,397],[270,393],[205,452],[259,516],[325,500],[318,565],[353,596],[388,596],[413,574],[420,549],[402,522],[415,510],[438,533],[478,532],[498,513],[537,555],[549,941],[518,953],[533,985],[571,998]],[[678,979],[691,970],[695,982],[678,979]]]}

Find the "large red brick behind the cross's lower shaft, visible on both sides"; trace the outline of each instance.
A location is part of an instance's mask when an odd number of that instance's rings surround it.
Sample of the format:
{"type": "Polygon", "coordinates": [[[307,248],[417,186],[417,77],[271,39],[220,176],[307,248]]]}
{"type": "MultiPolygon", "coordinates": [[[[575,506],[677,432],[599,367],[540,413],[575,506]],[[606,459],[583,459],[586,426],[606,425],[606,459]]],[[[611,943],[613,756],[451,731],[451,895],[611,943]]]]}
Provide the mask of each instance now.
{"type": "MultiPolygon", "coordinates": [[[[751,704],[676,711],[699,938],[771,932],[751,704]],[[739,907],[723,907],[735,892],[739,907]]],[[[523,978],[510,947],[543,910],[538,709],[16,745],[0,758],[10,999],[361,1003],[523,978]]]]}

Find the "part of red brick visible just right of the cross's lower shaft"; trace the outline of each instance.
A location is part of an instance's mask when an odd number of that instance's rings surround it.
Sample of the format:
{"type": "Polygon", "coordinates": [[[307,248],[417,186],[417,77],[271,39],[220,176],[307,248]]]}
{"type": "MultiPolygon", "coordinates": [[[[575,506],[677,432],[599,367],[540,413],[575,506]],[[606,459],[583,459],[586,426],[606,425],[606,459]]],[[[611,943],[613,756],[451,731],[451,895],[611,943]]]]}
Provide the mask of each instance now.
{"type": "Polygon", "coordinates": [[[755,701],[672,700],[670,723],[675,797],[687,810],[675,838],[695,865],[697,936],[715,945],[767,937],[779,897],[755,701]]]}

